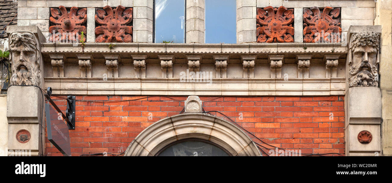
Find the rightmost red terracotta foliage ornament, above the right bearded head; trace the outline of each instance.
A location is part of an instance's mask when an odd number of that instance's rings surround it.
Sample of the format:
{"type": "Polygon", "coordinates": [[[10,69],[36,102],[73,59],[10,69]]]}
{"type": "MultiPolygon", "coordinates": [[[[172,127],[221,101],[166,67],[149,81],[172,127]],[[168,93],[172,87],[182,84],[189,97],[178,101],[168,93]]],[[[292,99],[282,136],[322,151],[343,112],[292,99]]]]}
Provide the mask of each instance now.
{"type": "Polygon", "coordinates": [[[303,9],[304,43],[338,43],[341,39],[340,8],[303,9]]]}

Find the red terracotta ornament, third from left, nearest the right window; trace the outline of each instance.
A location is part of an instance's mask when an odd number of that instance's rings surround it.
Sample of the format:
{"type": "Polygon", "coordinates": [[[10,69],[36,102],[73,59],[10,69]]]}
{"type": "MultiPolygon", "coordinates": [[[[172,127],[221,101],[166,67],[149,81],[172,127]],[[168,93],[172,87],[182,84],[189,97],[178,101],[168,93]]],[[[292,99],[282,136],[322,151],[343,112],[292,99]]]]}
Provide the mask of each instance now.
{"type": "Polygon", "coordinates": [[[294,42],[294,9],[283,6],[257,9],[257,42],[258,43],[290,43],[294,42]]]}

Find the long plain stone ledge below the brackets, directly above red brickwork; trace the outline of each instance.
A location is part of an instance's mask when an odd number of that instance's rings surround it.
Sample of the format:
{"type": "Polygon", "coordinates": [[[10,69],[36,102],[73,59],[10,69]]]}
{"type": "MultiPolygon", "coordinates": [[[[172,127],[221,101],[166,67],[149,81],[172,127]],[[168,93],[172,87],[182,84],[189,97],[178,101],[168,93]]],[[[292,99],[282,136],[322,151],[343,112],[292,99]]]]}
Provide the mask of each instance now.
{"type": "Polygon", "coordinates": [[[211,79],[211,83],[178,78],[45,77],[54,95],[344,95],[345,78],[211,79]]]}

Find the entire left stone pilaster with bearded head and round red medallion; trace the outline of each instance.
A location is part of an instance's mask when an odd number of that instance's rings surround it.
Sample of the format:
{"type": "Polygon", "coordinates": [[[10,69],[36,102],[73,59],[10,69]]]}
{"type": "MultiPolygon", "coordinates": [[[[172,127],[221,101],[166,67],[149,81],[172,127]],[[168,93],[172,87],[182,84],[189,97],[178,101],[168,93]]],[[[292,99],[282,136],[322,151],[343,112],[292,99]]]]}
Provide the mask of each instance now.
{"type": "Polygon", "coordinates": [[[12,55],[12,86],[7,90],[8,155],[40,156],[45,151],[44,96],[40,90],[44,86],[40,44],[45,38],[37,26],[9,26],[7,33],[12,55]],[[26,45],[34,54],[20,54],[26,45]],[[31,75],[28,79],[23,77],[26,72],[31,75]]]}

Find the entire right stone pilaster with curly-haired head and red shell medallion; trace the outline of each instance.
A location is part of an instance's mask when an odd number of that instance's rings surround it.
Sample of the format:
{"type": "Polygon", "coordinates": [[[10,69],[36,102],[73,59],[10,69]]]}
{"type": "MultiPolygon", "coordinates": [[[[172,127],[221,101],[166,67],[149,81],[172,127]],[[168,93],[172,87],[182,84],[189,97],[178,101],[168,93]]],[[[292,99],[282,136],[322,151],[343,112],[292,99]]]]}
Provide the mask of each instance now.
{"type": "MultiPolygon", "coordinates": [[[[377,83],[379,33],[381,33],[381,26],[351,26],[348,30],[345,95],[346,156],[381,155],[381,90],[377,83]],[[363,41],[367,44],[363,45],[363,41]]],[[[337,58],[325,59],[332,60],[330,62],[334,63],[337,58]]]]}

